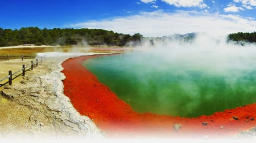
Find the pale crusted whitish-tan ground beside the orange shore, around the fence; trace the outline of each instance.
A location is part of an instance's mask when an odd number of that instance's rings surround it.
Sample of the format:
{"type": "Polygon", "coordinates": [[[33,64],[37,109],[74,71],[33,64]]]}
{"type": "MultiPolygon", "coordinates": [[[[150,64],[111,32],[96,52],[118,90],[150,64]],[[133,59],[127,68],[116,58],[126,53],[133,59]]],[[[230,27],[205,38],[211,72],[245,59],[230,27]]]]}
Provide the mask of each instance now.
{"type": "MultiPolygon", "coordinates": [[[[104,138],[63,94],[60,63],[66,58],[47,59],[13,80],[13,85],[0,88],[0,138],[104,138]]],[[[16,71],[30,61],[0,60],[0,79],[10,67],[16,71]]]]}

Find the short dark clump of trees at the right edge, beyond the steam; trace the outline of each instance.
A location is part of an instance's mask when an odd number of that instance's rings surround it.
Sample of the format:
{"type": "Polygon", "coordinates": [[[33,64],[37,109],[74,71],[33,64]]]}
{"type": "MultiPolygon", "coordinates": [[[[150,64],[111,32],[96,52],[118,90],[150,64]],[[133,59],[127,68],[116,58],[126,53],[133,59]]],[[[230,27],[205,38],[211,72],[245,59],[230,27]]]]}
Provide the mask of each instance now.
{"type": "Polygon", "coordinates": [[[228,35],[228,41],[236,42],[256,42],[256,32],[238,32],[228,35]]]}

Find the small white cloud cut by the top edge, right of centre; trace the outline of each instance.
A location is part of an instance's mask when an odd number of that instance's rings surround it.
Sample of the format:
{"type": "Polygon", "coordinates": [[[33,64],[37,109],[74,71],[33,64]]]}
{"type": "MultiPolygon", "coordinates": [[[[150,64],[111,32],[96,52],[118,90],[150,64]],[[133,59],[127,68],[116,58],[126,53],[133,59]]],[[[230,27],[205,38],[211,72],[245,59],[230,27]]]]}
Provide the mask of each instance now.
{"type": "Polygon", "coordinates": [[[207,5],[203,0],[162,0],[163,2],[168,3],[169,5],[174,5],[176,7],[199,7],[206,8],[207,5]]]}

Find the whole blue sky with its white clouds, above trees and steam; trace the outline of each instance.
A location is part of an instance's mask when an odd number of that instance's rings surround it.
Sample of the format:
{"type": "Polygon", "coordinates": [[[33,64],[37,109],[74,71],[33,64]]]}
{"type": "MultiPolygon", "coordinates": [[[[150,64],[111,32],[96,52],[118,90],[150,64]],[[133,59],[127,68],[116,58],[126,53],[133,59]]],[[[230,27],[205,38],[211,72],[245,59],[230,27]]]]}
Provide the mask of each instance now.
{"type": "Polygon", "coordinates": [[[0,27],[101,28],[144,36],[254,32],[256,0],[0,0],[0,27]]]}

